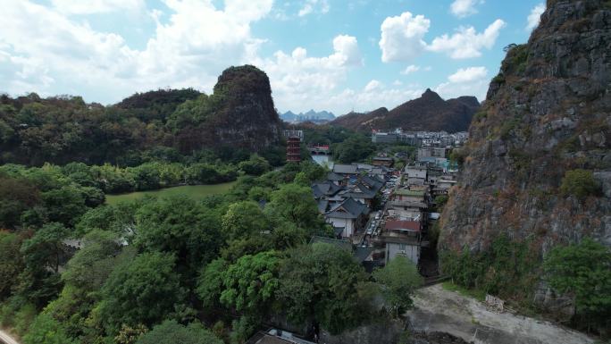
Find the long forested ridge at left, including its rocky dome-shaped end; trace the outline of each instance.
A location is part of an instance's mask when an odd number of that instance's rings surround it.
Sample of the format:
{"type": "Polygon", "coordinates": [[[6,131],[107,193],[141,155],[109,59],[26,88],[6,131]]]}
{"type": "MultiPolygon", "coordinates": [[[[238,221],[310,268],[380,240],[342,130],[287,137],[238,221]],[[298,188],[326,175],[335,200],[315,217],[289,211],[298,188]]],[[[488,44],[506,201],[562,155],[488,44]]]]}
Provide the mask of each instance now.
{"type": "Polygon", "coordinates": [[[249,65],[223,71],[209,96],[156,90],[109,106],[80,96],[0,96],[0,164],[134,165],[146,152],[263,153],[279,141],[269,79],[249,65]]]}

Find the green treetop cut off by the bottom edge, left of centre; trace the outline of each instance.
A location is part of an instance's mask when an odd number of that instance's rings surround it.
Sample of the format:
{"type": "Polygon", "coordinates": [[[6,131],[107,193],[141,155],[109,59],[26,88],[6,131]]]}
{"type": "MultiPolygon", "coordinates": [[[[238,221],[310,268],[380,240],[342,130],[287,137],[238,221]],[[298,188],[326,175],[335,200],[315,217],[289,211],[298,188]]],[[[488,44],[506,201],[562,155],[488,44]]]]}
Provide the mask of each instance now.
{"type": "Polygon", "coordinates": [[[136,344],[222,344],[222,340],[200,323],[183,326],[173,320],[156,325],[142,335],[136,344]]]}

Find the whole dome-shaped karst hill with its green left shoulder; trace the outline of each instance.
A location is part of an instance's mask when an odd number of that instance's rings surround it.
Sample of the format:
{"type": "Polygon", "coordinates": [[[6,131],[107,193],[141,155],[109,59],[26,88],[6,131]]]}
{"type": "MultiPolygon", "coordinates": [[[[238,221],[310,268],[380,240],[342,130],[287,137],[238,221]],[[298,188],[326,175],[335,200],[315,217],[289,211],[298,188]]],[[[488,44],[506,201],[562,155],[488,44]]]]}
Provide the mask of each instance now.
{"type": "Polygon", "coordinates": [[[280,141],[280,118],[270,80],[255,66],[222,72],[213,94],[187,101],[172,114],[180,150],[234,147],[260,152],[280,141]]]}

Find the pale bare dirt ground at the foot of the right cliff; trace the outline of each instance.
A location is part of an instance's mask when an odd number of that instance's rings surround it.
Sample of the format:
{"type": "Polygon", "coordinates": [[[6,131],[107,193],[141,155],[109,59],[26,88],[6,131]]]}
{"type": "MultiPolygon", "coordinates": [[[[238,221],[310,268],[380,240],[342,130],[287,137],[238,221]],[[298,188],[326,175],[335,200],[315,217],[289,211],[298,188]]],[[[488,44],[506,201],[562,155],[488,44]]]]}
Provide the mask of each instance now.
{"type": "Polygon", "coordinates": [[[474,298],[441,288],[418,290],[407,313],[416,331],[447,332],[476,344],[585,344],[594,340],[554,323],[496,313],[474,298]]]}

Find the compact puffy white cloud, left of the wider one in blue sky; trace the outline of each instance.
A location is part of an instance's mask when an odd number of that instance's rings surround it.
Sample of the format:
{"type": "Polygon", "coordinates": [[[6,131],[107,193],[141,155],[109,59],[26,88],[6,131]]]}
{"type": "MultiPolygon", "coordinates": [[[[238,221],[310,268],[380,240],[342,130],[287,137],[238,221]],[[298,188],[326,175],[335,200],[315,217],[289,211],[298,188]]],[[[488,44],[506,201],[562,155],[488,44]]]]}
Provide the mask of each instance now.
{"type": "Polygon", "coordinates": [[[410,61],[420,55],[426,46],[423,37],[430,25],[431,21],[423,15],[414,16],[409,12],[387,17],[381,24],[382,62],[410,61]]]}

